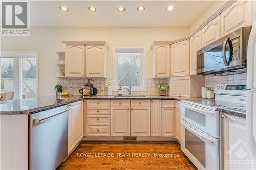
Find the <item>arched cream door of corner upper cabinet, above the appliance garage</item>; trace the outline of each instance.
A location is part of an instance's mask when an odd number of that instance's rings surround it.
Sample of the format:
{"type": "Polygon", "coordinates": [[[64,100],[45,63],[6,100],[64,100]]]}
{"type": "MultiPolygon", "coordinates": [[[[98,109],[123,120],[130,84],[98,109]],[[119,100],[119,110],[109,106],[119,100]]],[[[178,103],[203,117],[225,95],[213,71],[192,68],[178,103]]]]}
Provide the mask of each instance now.
{"type": "Polygon", "coordinates": [[[170,47],[171,52],[171,75],[188,76],[189,75],[189,40],[177,42],[170,47]]]}

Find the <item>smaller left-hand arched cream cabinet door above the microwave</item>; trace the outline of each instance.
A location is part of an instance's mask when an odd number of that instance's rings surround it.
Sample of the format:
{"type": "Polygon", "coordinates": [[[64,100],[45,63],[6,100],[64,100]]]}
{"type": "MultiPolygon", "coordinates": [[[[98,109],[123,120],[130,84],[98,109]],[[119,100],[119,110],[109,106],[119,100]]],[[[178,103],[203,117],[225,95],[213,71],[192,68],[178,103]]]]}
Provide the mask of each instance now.
{"type": "Polygon", "coordinates": [[[221,16],[217,16],[202,28],[202,47],[218,40],[221,36],[221,16]]]}

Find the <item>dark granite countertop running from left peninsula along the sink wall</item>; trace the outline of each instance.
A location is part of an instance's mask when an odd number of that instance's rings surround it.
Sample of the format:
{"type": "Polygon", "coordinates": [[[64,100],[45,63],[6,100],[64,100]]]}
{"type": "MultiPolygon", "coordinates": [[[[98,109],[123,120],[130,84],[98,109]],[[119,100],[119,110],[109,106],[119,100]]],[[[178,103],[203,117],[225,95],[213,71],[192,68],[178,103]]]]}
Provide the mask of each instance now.
{"type": "Polygon", "coordinates": [[[72,102],[90,99],[165,99],[180,100],[171,96],[148,95],[143,97],[115,97],[115,96],[81,96],[70,95],[66,98],[56,99],[56,96],[45,96],[41,98],[16,99],[0,102],[0,114],[32,114],[38,111],[51,109],[54,107],[67,105],[72,102]]]}

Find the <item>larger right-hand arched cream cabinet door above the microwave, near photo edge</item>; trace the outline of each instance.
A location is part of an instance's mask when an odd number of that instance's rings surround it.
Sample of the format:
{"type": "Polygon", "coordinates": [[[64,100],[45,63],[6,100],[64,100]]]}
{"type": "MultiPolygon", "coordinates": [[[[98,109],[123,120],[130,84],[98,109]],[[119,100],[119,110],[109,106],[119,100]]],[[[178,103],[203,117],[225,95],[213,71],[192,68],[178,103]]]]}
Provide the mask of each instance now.
{"type": "Polygon", "coordinates": [[[236,1],[221,13],[221,36],[251,25],[251,1],[236,1]]]}

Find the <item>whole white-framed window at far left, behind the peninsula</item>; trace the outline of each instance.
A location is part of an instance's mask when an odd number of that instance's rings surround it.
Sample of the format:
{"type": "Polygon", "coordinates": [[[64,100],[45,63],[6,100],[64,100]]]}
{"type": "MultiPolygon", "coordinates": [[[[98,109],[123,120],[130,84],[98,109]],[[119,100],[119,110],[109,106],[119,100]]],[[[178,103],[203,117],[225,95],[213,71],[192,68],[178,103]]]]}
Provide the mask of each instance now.
{"type": "Polygon", "coordinates": [[[35,98],[38,86],[37,52],[1,52],[1,92],[14,91],[13,99],[35,98]]]}

